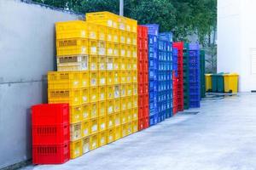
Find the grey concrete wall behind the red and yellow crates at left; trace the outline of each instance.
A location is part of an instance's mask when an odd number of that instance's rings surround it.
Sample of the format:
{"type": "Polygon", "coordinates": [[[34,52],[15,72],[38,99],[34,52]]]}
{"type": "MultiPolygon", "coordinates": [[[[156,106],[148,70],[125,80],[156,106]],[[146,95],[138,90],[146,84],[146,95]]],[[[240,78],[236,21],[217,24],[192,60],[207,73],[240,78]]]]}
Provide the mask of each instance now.
{"type": "Polygon", "coordinates": [[[30,107],[47,102],[55,69],[55,22],[82,15],[0,1],[0,168],[32,158],[30,107]]]}

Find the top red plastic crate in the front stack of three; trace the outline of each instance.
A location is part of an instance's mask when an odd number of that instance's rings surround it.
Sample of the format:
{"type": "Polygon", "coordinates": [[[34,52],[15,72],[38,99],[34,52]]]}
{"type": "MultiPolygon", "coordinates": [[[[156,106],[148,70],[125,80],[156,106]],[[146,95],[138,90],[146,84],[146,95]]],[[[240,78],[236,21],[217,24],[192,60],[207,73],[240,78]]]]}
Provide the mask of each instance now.
{"type": "Polygon", "coordinates": [[[69,123],[68,104],[42,104],[32,106],[32,126],[62,123],[69,123]]]}

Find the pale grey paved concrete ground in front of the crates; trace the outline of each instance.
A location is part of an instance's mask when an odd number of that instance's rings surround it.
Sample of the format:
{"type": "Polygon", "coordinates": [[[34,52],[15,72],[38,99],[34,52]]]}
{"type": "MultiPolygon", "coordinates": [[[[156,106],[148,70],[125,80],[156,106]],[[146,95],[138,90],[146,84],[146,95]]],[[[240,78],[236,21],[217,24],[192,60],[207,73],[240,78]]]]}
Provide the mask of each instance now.
{"type": "Polygon", "coordinates": [[[24,169],[255,170],[256,95],[207,99],[198,111],[172,117],[63,165],[24,169]]]}

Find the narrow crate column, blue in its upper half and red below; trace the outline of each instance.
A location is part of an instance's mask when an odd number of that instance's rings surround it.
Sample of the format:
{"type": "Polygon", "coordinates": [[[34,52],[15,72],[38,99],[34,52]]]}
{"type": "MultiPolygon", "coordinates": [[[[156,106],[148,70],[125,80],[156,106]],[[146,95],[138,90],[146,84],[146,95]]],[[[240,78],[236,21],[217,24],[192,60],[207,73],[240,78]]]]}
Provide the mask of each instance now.
{"type": "Polygon", "coordinates": [[[177,114],[177,48],[172,48],[172,93],[173,115],[177,114]]]}

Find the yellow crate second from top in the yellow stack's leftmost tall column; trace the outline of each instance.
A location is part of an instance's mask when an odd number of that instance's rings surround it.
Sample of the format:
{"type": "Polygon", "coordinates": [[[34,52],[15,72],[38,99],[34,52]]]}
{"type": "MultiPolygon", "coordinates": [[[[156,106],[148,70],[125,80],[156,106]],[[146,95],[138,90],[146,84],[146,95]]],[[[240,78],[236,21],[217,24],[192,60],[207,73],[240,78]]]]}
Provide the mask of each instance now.
{"type": "Polygon", "coordinates": [[[57,56],[89,54],[88,40],[81,38],[56,40],[57,56]]]}

